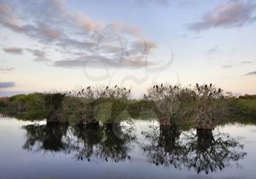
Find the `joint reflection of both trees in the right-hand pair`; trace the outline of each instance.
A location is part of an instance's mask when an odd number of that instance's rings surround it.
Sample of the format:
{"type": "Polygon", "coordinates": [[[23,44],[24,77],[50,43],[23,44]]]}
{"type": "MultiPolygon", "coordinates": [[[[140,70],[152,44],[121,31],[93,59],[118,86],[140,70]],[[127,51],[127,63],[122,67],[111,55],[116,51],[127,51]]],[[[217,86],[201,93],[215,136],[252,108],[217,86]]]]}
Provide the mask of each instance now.
{"type": "Polygon", "coordinates": [[[142,132],[147,140],[143,144],[148,162],[195,172],[217,172],[225,167],[239,167],[246,152],[239,138],[214,130],[181,130],[176,126],[152,127],[142,132]]]}

